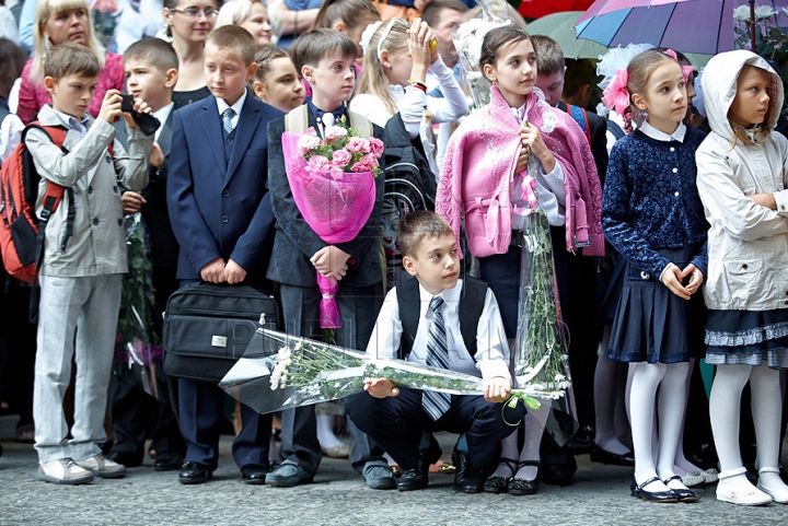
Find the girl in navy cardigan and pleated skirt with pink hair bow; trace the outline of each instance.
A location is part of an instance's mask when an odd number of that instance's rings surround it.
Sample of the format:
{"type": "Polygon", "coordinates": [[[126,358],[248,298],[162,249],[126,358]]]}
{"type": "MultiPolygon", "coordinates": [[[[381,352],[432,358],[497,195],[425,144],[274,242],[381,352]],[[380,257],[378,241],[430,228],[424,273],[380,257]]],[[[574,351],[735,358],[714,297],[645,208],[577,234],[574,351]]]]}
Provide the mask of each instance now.
{"type": "Polygon", "coordinates": [[[707,267],[708,224],[695,186],[695,150],[704,135],[682,124],[686,77],[672,54],[645,51],[616,77],[614,96],[631,107],[638,126],[613,147],[602,201],[605,237],[627,261],[607,356],[636,364],[629,400],[631,494],[692,502],[698,496],[676,476],[674,458],[690,358],[703,352],[697,292],[707,267]]]}

